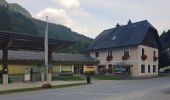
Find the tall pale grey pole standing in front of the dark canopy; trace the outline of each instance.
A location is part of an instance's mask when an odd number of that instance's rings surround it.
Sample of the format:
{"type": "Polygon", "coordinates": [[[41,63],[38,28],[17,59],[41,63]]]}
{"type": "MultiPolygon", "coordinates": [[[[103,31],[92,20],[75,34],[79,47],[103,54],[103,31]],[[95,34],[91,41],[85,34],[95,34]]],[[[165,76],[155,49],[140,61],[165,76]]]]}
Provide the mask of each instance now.
{"type": "Polygon", "coordinates": [[[48,75],[48,16],[46,16],[46,29],[45,29],[45,41],[44,41],[44,46],[45,46],[45,66],[46,66],[46,79],[49,81],[49,75],[48,75]]]}

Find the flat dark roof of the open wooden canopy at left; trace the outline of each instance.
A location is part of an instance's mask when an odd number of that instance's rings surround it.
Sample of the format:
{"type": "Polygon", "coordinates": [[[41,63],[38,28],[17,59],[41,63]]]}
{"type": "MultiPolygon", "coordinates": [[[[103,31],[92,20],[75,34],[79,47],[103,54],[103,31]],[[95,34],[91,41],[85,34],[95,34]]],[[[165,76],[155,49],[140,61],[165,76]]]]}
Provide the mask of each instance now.
{"type": "MultiPolygon", "coordinates": [[[[73,41],[55,39],[49,39],[48,42],[50,52],[57,51],[75,43],[73,41]]],[[[4,46],[6,46],[8,50],[44,51],[44,37],[0,31],[0,49],[3,49],[4,46]]]]}

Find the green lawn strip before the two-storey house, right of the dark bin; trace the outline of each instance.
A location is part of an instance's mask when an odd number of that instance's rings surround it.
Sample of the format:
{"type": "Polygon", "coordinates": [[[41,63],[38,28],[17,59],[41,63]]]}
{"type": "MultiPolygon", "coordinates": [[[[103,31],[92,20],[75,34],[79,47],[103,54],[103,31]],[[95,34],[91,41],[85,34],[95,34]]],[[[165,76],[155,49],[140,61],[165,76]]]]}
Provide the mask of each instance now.
{"type": "Polygon", "coordinates": [[[120,77],[113,75],[94,75],[93,77],[96,80],[120,80],[120,77]]]}

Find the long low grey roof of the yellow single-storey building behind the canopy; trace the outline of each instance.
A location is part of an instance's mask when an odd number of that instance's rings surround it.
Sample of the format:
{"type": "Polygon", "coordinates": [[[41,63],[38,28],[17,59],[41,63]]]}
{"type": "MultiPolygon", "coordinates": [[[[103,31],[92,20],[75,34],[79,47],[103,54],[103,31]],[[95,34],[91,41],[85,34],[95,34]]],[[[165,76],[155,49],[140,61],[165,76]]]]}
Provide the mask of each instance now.
{"type": "MultiPolygon", "coordinates": [[[[0,60],[2,60],[2,51],[0,51],[0,60]]],[[[44,61],[44,52],[34,51],[8,51],[8,60],[11,61],[44,61]]],[[[70,53],[53,53],[52,61],[54,62],[81,62],[81,63],[98,63],[95,58],[88,57],[84,54],[70,53]]]]}

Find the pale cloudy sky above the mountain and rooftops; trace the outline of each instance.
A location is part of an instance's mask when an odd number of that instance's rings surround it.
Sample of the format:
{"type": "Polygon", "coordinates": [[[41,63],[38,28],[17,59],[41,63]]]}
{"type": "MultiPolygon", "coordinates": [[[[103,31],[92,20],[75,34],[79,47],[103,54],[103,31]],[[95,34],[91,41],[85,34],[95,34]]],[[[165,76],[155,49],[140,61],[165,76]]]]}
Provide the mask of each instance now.
{"type": "Polygon", "coordinates": [[[95,38],[117,23],[148,20],[159,34],[170,29],[170,0],[7,0],[26,8],[33,17],[63,24],[95,38]]]}

